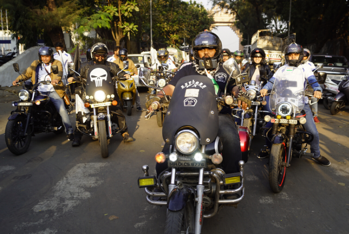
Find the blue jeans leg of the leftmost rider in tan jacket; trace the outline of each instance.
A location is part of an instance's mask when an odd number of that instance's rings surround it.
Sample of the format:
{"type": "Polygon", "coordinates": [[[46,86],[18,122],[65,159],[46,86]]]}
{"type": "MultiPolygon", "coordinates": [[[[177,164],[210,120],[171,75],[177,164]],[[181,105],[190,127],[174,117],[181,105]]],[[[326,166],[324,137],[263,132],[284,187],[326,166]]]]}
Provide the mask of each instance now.
{"type": "Polygon", "coordinates": [[[65,132],[67,134],[73,133],[73,128],[71,127],[68,112],[65,109],[64,101],[59,95],[56,93],[56,91],[53,92],[41,92],[43,95],[47,95],[50,97],[50,101],[53,103],[54,107],[56,108],[59,115],[62,117],[62,122],[65,128],[65,132]]]}

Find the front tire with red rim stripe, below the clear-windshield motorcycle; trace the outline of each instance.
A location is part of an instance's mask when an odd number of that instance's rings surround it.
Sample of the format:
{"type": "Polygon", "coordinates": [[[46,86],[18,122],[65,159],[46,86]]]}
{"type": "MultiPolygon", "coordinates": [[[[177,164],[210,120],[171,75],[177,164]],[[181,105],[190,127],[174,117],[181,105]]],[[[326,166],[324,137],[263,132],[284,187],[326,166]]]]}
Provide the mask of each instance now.
{"type": "Polygon", "coordinates": [[[284,188],[286,166],[280,164],[286,160],[285,143],[273,144],[269,154],[269,184],[274,193],[280,193],[284,188]]]}

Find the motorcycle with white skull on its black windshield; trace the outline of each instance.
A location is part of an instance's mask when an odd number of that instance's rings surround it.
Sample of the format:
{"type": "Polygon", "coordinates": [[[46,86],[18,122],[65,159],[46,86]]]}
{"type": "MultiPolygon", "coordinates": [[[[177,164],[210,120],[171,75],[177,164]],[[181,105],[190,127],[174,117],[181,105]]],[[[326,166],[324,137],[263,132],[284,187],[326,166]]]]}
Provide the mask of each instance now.
{"type": "MultiPolygon", "coordinates": [[[[74,71],[72,68],[70,69],[74,71]]],[[[110,69],[105,65],[91,67],[87,79],[84,81],[86,82],[85,101],[79,95],[75,95],[77,130],[94,140],[98,139],[103,158],[109,156],[108,139],[123,130],[126,122],[124,119],[124,126],[120,126],[119,130],[115,125],[112,125],[113,115],[123,116],[110,110],[111,106],[116,106],[118,103],[113,100],[115,97],[114,85],[109,71],[110,69]],[[79,116],[79,113],[82,115],[79,116]],[[78,118],[82,119],[83,123],[80,123],[78,118]]],[[[80,74],[74,72],[79,79],[80,74]]]]}

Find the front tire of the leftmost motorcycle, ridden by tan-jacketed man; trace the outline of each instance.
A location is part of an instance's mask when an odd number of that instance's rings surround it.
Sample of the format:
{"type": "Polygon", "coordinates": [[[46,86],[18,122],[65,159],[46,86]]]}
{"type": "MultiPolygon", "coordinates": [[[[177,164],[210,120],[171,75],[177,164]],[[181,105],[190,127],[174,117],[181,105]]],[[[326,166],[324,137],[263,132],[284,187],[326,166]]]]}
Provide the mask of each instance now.
{"type": "Polygon", "coordinates": [[[23,136],[25,129],[26,119],[25,118],[16,118],[13,120],[8,120],[5,128],[5,141],[8,150],[15,154],[21,155],[25,153],[30,145],[31,141],[31,129],[32,125],[29,125],[26,136],[23,136]]]}

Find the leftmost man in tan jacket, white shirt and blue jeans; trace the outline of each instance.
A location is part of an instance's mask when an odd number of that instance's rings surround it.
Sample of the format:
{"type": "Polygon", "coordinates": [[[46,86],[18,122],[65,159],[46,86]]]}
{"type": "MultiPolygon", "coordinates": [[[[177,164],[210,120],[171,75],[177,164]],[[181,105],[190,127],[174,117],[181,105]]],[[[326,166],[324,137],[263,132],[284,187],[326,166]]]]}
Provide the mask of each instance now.
{"type": "MultiPolygon", "coordinates": [[[[62,117],[62,122],[65,128],[65,132],[68,135],[68,140],[73,140],[73,128],[70,124],[68,112],[65,109],[63,97],[65,95],[65,87],[62,81],[63,66],[59,60],[53,58],[53,50],[50,47],[43,46],[39,49],[39,60],[34,60],[31,65],[22,73],[22,76],[18,76],[12,85],[16,85],[19,80],[28,80],[31,78],[33,84],[41,81],[45,81],[47,74],[51,71],[52,65],[58,66],[58,74],[51,73],[51,85],[40,85],[37,90],[50,98],[50,101],[56,108],[59,115],[62,117]],[[58,84],[60,82],[60,84],[58,84]]],[[[48,76],[47,76],[48,77],[48,76]]],[[[47,78],[46,78],[47,79],[47,78]]]]}

